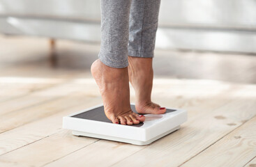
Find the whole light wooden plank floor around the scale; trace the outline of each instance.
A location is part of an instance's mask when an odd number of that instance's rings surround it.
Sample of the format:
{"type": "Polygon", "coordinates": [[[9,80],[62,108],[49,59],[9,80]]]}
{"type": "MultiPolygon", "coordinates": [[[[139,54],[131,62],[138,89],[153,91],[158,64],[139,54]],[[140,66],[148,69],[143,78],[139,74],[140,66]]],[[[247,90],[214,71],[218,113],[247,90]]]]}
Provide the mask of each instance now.
{"type": "Polygon", "coordinates": [[[52,66],[47,39],[0,36],[0,166],[256,166],[256,56],[156,49],[152,99],[188,121],[137,146],[62,129],[102,102],[89,72],[98,49],[61,40],[52,66]]]}

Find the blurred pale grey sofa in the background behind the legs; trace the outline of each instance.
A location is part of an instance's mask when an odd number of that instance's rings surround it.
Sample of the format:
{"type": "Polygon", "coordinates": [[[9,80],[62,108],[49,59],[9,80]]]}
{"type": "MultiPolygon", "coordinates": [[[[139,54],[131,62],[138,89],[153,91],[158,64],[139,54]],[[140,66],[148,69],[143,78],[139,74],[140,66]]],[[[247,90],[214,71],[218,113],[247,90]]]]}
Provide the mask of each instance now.
{"type": "MultiPolygon", "coordinates": [[[[100,0],[0,0],[0,32],[100,42],[100,0]]],[[[256,1],[162,0],[156,47],[256,53],[256,1]]]]}

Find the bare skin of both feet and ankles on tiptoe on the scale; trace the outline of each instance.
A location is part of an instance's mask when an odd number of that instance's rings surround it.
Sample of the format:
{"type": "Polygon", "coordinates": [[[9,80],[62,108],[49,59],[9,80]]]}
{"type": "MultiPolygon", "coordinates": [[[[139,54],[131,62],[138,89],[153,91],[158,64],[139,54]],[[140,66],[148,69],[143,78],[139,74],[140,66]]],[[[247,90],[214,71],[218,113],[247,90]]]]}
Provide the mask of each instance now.
{"type": "Polygon", "coordinates": [[[133,125],[144,122],[143,114],[165,113],[165,107],[151,102],[153,86],[153,58],[128,56],[128,67],[114,68],[99,59],[91,65],[91,74],[100,89],[105,115],[113,123],[133,125]],[[130,109],[129,81],[135,89],[134,113],[130,109]]]}

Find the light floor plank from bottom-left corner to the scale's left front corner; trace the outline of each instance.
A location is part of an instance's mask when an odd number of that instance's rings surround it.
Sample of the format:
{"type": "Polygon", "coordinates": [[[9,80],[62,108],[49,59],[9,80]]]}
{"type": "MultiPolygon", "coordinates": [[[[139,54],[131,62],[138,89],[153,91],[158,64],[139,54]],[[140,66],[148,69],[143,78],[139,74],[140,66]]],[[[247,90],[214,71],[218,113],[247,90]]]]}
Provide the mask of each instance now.
{"type": "MultiPolygon", "coordinates": [[[[0,157],[0,166],[43,166],[47,161],[61,158],[63,154],[69,154],[98,141],[96,138],[79,138],[70,134],[68,130],[40,140],[15,152],[3,154],[0,157]],[[49,156],[50,155],[50,156],[49,156]],[[32,158],[33,157],[33,158],[32,158]],[[13,161],[15,159],[15,161],[13,161]]],[[[86,157],[86,154],[84,154],[86,157]]]]}

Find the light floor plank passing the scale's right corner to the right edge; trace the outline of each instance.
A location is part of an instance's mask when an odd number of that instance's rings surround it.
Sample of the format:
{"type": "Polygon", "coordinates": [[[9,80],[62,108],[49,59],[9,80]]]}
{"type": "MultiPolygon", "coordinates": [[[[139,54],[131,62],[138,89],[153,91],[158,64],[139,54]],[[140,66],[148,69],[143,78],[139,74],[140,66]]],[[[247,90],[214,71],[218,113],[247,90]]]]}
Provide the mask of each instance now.
{"type": "Polygon", "coordinates": [[[234,130],[244,120],[255,116],[256,99],[251,98],[255,96],[255,86],[253,89],[248,88],[246,95],[241,95],[239,100],[234,100],[211,113],[202,114],[200,118],[188,121],[185,127],[173,136],[161,139],[158,143],[120,161],[116,166],[127,164],[132,159],[130,165],[133,166],[139,164],[143,164],[142,166],[179,166],[183,161],[190,159],[234,130]],[[141,155],[144,161],[135,160],[135,157],[141,155]]]}

